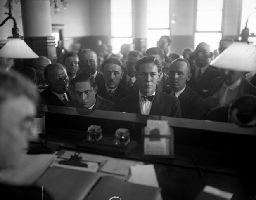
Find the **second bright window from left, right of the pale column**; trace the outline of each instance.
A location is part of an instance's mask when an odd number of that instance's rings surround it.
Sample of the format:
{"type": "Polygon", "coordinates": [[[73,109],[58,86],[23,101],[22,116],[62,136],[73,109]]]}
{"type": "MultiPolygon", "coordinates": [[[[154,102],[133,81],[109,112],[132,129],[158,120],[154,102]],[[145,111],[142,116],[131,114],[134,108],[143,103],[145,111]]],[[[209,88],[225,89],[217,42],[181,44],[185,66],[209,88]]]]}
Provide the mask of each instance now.
{"type": "Polygon", "coordinates": [[[169,0],[147,0],[147,49],[156,47],[162,35],[170,35],[169,0]]]}

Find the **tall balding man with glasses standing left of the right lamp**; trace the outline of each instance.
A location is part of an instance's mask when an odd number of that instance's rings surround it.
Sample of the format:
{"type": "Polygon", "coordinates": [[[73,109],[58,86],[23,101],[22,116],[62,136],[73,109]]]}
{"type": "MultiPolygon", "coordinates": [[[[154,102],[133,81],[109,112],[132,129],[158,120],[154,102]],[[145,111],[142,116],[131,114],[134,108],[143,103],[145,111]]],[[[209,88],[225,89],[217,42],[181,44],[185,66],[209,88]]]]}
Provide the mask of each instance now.
{"type": "Polygon", "coordinates": [[[195,67],[191,69],[192,77],[187,82],[187,85],[194,92],[205,98],[211,82],[220,76],[220,72],[209,67],[212,52],[210,52],[210,46],[208,44],[201,42],[197,45],[194,54],[195,67]]]}

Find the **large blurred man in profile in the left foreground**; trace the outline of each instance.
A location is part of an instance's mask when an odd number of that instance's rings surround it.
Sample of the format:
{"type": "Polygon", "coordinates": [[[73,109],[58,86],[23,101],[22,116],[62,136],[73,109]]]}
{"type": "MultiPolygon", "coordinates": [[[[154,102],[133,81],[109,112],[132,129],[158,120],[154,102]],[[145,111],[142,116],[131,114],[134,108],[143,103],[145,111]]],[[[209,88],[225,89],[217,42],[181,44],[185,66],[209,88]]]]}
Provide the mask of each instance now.
{"type": "MultiPolygon", "coordinates": [[[[0,172],[17,168],[22,152],[28,148],[28,141],[37,138],[32,132],[37,100],[35,85],[14,72],[0,72],[0,172]]],[[[0,181],[0,197],[51,199],[43,188],[10,180],[0,181]]]]}

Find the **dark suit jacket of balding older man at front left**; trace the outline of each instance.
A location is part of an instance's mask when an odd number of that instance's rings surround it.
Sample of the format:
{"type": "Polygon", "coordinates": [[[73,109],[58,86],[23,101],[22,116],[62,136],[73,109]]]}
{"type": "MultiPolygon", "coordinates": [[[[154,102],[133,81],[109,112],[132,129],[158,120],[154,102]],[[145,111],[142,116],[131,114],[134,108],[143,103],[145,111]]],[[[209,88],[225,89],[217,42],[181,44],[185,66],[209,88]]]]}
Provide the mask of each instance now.
{"type": "MultiPolygon", "coordinates": [[[[66,92],[69,101],[76,99],[75,89],[72,85],[69,85],[68,91],[66,92]]],[[[56,96],[52,90],[48,87],[40,93],[41,104],[53,105],[53,106],[65,106],[65,104],[56,96]]]]}

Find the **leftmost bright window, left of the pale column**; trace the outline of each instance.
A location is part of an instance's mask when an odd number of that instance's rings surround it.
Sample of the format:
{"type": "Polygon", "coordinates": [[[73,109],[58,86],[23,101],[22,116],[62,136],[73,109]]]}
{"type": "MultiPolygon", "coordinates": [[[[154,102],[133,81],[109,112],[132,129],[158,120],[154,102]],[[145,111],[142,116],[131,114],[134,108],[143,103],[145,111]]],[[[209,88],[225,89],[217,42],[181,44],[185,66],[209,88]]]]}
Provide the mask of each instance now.
{"type": "Polygon", "coordinates": [[[118,53],[123,44],[132,43],[132,2],[111,0],[111,45],[118,53]]]}

